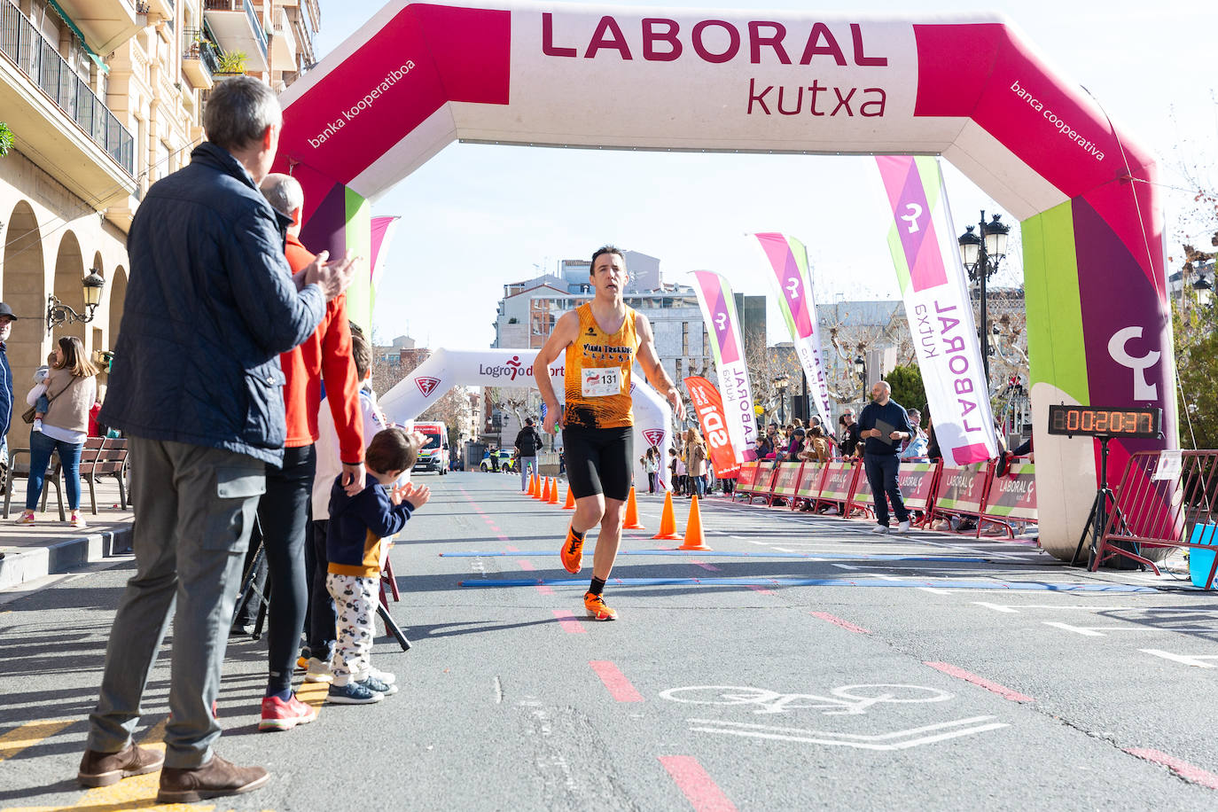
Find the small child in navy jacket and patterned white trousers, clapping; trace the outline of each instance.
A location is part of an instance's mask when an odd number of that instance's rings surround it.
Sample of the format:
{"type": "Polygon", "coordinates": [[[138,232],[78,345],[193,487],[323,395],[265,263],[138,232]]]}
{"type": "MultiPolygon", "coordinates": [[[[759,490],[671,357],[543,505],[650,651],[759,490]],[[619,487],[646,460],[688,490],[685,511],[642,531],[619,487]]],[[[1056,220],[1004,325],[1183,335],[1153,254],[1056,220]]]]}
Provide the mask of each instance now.
{"type": "Polygon", "coordinates": [[[374,481],[353,497],[343,489],[341,476],[335,477],[330,489],[325,588],[339,615],[334,682],[326,698],[330,702],[363,705],[397,693],[397,685],[371,674],[373,617],[381,545],[431,498],[431,489],[424,485],[393,485],[414,466],[423,442],[421,435],[398,427],[378,432],[364,453],[364,466],[374,481]]]}

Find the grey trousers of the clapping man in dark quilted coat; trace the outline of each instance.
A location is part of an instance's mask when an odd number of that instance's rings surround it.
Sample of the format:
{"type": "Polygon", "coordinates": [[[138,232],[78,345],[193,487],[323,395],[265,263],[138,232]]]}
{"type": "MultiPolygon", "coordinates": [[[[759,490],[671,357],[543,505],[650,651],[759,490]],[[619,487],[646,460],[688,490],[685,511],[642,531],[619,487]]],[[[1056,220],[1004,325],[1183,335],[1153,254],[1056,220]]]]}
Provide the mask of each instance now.
{"type": "Polygon", "coordinates": [[[266,463],[245,454],[132,437],[135,575],[118,603],[86,746],[116,752],[140,718],[157,650],[174,621],[167,767],[211,761],[233,605],[266,463]],[[174,611],[177,604],[177,611],[174,611]]]}

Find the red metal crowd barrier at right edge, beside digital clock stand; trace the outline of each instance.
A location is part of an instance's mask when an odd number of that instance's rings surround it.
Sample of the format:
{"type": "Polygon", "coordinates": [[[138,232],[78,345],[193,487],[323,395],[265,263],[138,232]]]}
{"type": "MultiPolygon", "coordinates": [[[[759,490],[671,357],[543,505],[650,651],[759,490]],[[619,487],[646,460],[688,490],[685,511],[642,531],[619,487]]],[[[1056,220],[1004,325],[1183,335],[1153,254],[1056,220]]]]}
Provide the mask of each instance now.
{"type": "MultiPolygon", "coordinates": [[[[1216,548],[1218,515],[1218,450],[1136,452],[1130,454],[1113,497],[1091,570],[1114,556],[1127,558],[1158,575],[1156,551],[1172,548],[1203,550],[1216,548]]],[[[1192,569],[1192,567],[1190,567],[1192,569]]],[[[1208,573],[1200,571],[1197,586],[1214,588],[1218,556],[1208,573]]]]}

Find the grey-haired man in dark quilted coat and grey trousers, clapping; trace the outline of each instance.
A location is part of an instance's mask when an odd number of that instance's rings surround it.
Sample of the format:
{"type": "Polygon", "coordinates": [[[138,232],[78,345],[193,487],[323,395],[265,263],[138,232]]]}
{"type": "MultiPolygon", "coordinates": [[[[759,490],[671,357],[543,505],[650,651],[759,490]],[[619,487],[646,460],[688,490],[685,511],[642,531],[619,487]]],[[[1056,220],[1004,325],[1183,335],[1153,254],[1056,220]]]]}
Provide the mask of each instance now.
{"type": "Polygon", "coordinates": [[[149,189],[127,240],[132,276],[100,420],[130,438],[133,548],[77,779],[106,786],[161,769],[158,803],[247,793],[262,767],[213,752],[213,702],[266,466],[286,432],[279,353],[317,327],[353,263],[325,254],[294,280],[287,220],[258,191],[283,114],[257,79],[222,82],[208,141],[149,189]],[[132,743],[173,617],[166,752],[132,743]]]}

